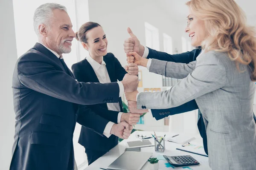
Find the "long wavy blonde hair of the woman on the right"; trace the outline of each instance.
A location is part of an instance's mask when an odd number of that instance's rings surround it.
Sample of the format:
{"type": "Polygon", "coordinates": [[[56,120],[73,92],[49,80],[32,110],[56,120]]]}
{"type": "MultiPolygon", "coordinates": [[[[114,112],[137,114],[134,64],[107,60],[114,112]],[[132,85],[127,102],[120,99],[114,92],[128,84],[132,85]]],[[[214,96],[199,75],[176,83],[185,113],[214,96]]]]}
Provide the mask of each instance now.
{"type": "Polygon", "coordinates": [[[247,26],[242,9],[234,0],[190,0],[187,6],[204,20],[208,37],[202,42],[206,51],[227,52],[231,60],[248,65],[256,81],[256,32],[247,26]]]}

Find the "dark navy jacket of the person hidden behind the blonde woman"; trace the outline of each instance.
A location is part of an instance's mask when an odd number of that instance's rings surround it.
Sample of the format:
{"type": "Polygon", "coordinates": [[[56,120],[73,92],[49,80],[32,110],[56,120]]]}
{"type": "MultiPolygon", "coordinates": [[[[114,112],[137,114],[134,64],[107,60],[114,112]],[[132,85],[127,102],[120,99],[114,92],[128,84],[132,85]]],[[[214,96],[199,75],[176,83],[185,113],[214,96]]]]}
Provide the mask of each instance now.
{"type": "MultiPolygon", "coordinates": [[[[159,59],[163,61],[170,61],[170,62],[181,62],[181,63],[189,63],[192,61],[195,61],[198,55],[201,53],[201,49],[194,49],[192,51],[187,51],[185,53],[181,54],[167,54],[164,52],[156,51],[151,48],[148,48],[149,53],[148,53],[148,59],[149,58],[154,58],[154,59],[159,59]]],[[[190,102],[187,102],[183,105],[180,105],[176,108],[169,108],[169,109],[151,109],[153,117],[155,119],[163,119],[166,116],[169,115],[175,115],[178,113],[184,113],[187,111],[193,111],[195,109],[198,109],[198,105],[196,104],[195,100],[192,100],[190,102]]],[[[201,112],[198,110],[198,113],[201,114],[201,112]]],[[[253,114],[253,118],[256,121],[256,116],[253,114]]],[[[198,119],[198,130],[203,138],[203,143],[204,143],[204,150],[205,153],[208,155],[208,149],[207,149],[207,135],[206,135],[206,130],[205,130],[205,125],[204,125],[204,120],[202,116],[198,119]]]]}

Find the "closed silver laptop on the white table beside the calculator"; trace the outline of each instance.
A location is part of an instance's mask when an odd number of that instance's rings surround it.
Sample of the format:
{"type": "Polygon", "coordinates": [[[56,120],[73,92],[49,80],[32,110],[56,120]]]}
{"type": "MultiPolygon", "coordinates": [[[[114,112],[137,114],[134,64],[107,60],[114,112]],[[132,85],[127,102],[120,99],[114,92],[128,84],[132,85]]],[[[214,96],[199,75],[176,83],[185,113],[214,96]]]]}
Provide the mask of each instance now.
{"type": "Polygon", "coordinates": [[[112,164],[108,170],[140,170],[153,153],[149,152],[124,152],[112,164]]]}

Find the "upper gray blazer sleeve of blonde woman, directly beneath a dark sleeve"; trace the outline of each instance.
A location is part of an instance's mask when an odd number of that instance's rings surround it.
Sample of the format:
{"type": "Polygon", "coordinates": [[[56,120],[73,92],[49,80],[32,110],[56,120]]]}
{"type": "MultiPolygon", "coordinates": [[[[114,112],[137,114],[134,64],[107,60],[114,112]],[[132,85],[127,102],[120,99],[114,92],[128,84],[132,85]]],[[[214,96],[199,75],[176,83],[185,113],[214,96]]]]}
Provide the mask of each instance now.
{"type": "Polygon", "coordinates": [[[160,74],[165,77],[183,79],[195,70],[196,63],[197,61],[186,64],[152,59],[149,72],[160,74]]]}

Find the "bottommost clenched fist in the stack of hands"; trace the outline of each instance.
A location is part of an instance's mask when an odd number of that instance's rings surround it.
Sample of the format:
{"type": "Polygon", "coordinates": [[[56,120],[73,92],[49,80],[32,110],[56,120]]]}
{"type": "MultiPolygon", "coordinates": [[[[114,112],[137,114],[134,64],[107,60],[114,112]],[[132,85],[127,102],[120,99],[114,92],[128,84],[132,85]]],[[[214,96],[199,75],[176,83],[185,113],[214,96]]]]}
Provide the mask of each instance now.
{"type": "Polygon", "coordinates": [[[121,122],[119,124],[114,124],[111,128],[110,133],[121,138],[128,139],[131,135],[132,126],[126,122],[121,122]]]}

